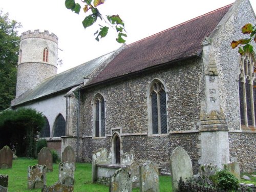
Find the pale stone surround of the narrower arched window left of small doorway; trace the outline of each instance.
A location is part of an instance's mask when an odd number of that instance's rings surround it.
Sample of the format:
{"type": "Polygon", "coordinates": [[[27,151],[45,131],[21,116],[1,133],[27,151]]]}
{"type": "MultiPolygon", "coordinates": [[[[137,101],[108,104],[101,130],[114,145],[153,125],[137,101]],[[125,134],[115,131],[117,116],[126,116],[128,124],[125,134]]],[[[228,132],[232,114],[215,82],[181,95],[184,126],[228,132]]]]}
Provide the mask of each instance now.
{"type": "Polygon", "coordinates": [[[103,94],[101,94],[101,93],[97,93],[95,96],[94,96],[94,98],[93,98],[93,120],[92,120],[92,122],[93,122],[93,130],[92,130],[92,135],[93,135],[93,138],[106,138],[106,119],[105,119],[105,117],[106,117],[106,99],[105,99],[105,97],[103,96],[103,94]],[[102,116],[101,116],[101,104],[102,104],[102,102],[100,102],[100,100],[101,99],[103,99],[103,102],[104,102],[104,124],[102,125],[102,116]],[[98,111],[98,113],[99,113],[99,119],[100,119],[100,121],[99,121],[99,128],[101,128],[101,129],[99,129],[99,136],[96,136],[96,103],[97,103],[97,100],[99,101],[99,111],[98,111]],[[102,126],[103,126],[103,128],[104,128],[104,134],[102,134],[102,126]]]}

